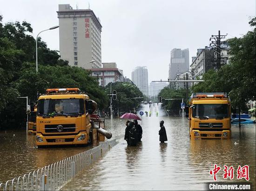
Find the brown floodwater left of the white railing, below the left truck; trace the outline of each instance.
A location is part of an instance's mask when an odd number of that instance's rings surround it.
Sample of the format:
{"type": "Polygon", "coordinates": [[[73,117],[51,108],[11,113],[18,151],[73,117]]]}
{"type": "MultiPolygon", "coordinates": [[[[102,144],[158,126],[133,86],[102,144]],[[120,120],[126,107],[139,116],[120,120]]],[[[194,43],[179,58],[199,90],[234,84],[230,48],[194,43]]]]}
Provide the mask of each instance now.
{"type": "Polygon", "coordinates": [[[26,136],[26,130],[0,131],[0,182],[23,176],[89,148],[90,146],[38,149],[35,135],[26,136]]]}

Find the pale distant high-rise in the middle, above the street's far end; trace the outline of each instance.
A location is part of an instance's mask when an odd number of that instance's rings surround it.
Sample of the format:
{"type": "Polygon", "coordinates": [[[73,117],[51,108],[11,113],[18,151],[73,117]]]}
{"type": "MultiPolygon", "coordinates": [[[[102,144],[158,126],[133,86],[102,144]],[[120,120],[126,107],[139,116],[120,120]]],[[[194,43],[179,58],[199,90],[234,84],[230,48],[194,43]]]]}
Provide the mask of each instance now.
{"type": "Polygon", "coordinates": [[[144,95],[148,96],[148,69],[146,66],[137,66],[132,71],[132,81],[144,95]]]}

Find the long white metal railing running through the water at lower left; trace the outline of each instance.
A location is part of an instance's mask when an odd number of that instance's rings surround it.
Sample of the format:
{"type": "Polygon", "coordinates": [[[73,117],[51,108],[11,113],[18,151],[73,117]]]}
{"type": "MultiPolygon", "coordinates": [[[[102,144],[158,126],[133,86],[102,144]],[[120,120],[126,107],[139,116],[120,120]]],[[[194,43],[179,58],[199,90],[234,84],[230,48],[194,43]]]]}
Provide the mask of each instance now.
{"type": "Polygon", "coordinates": [[[29,172],[18,178],[0,183],[0,191],[52,191],[58,190],[70,181],[85,167],[93,164],[111,147],[115,146],[123,135],[100,142],[99,146],[82,153],[45,166],[37,171],[29,172]]]}

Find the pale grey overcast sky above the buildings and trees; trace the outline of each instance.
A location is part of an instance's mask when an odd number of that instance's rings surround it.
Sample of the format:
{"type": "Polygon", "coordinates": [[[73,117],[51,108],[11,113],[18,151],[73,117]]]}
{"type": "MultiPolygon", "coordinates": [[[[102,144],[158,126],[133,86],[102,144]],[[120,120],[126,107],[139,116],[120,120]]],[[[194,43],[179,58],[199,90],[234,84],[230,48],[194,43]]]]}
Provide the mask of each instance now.
{"type": "MultiPolygon", "coordinates": [[[[0,14],[4,23],[31,23],[36,37],[59,25],[58,4],[87,9],[88,3],[101,20],[102,62],[116,62],[129,78],[136,66],[147,66],[148,83],[167,80],[171,49],[189,48],[191,63],[212,34],[241,37],[256,14],[256,0],[0,0],[0,14]]],[[[59,50],[59,29],[40,37],[59,50]]]]}

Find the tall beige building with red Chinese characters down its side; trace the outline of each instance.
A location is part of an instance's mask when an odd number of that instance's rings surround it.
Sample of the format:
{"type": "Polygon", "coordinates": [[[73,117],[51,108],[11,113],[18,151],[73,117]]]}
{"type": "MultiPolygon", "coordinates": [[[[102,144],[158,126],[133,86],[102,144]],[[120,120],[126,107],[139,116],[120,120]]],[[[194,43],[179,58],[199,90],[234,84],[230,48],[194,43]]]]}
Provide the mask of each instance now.
{"type": "Polygon", "coordinates": [[[60,55],[71,66],[101,67],[101,23],[91,9],[59,5],[60,55]],[[93,63],[88,63],[95,60],[93,63]]]}

